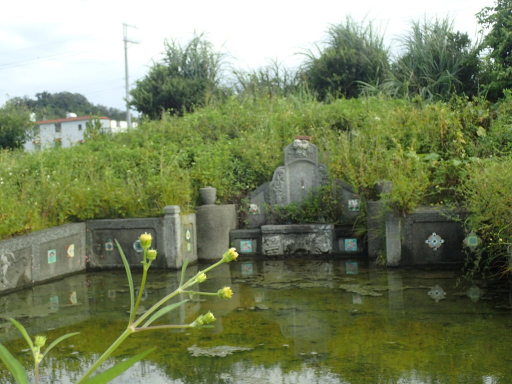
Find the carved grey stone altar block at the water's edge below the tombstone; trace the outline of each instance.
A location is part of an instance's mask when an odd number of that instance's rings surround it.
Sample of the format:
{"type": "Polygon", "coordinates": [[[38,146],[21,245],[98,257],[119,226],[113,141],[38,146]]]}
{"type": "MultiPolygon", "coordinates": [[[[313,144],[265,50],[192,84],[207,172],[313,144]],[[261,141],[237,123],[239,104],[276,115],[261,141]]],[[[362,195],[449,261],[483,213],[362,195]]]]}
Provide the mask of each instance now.
{"type": "Polygon", "coordinates": [[[263,254],[324,254],[333,249],[332,224],[263,225],[263,254]]]}

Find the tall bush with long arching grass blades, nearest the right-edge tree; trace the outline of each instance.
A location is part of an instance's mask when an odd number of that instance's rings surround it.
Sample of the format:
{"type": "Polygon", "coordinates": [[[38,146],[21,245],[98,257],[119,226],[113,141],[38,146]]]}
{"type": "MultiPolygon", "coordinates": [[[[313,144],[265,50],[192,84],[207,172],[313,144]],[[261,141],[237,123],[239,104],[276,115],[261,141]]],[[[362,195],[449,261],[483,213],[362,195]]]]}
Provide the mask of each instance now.
{"type": "Polygon", "coordinates": [[[478,44],[472,45],[466,33],[454,32],[448,18],[413,22],[401,42],[403,54],[379,91],[429,100],[478,93],[478,44]]]}

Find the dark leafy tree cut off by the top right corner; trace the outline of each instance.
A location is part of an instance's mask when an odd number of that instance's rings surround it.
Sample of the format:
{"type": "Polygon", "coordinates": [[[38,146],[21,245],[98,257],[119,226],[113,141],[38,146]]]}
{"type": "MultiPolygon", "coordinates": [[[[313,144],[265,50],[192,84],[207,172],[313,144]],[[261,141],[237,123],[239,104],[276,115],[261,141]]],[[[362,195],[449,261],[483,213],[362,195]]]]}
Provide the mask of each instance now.
{"type": "Polygon", "coordinates": [[[483,84],[489,99],[497,100],[503,89],[512,88],[512,1],[496,0],[476,16],[482,28],[490,29],[481,47],[488,51],[483,84]]]}

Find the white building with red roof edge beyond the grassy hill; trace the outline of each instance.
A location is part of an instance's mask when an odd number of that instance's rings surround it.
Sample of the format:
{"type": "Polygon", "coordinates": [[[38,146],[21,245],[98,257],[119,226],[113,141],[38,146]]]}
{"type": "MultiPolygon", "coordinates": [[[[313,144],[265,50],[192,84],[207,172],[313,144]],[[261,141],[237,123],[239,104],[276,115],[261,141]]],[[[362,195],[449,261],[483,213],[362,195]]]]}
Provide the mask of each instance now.
{"type": "MultiPolygon", "coordinates": [[[[93,117],[96,119],[96,117],[93,117]]],[[[66,119],[53,119],[36,121],[36,132],[31,140],[25,142],[25,151],[41,150],[52,146],[69,147],[82,143],[86,132],[86,123],[89,116],[77,117],[68,113],[66,119]]],[[[118,133],[126,131],[126,121],[116,121],[109,117],[99,117],[104,132],[118,133]]],[[[137,126],[133,123],[133,126],[137,126]]]]}

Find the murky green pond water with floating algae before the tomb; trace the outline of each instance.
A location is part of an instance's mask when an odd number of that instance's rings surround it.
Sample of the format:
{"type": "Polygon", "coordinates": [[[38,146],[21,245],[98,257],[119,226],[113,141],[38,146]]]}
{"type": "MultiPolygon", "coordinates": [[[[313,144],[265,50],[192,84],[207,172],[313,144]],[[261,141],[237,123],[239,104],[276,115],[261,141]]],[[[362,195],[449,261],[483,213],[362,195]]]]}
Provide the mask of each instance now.
{"type": "MultiPolygon", "coordinates": [[[[189,273],[206,266],[191,266],[189,273]]],[[[211,310],[215,328],[132,335],[105,367],[157,346],[112,382],[512,382],[507,283],[456,285],[458,277],[459,270],[391,270],[345,260],[239,260],[210,272],[200,286],[229,285],[231,300],[190,302],[165,318],[189,323],[211,310]]],[[[150,270],[142,305],[174,290],[177,279],[176,271],[150,270]]],[[[74,275],[4,295],[0,342],[29,366],[31,355],[8,317],[49,340],[81,332],[41,365],[41,383],[71,383],[125,328],[128,303],[122,271],[74,275]]],[[[0,383],[11,381],[1,366],[0,383]]]]}

